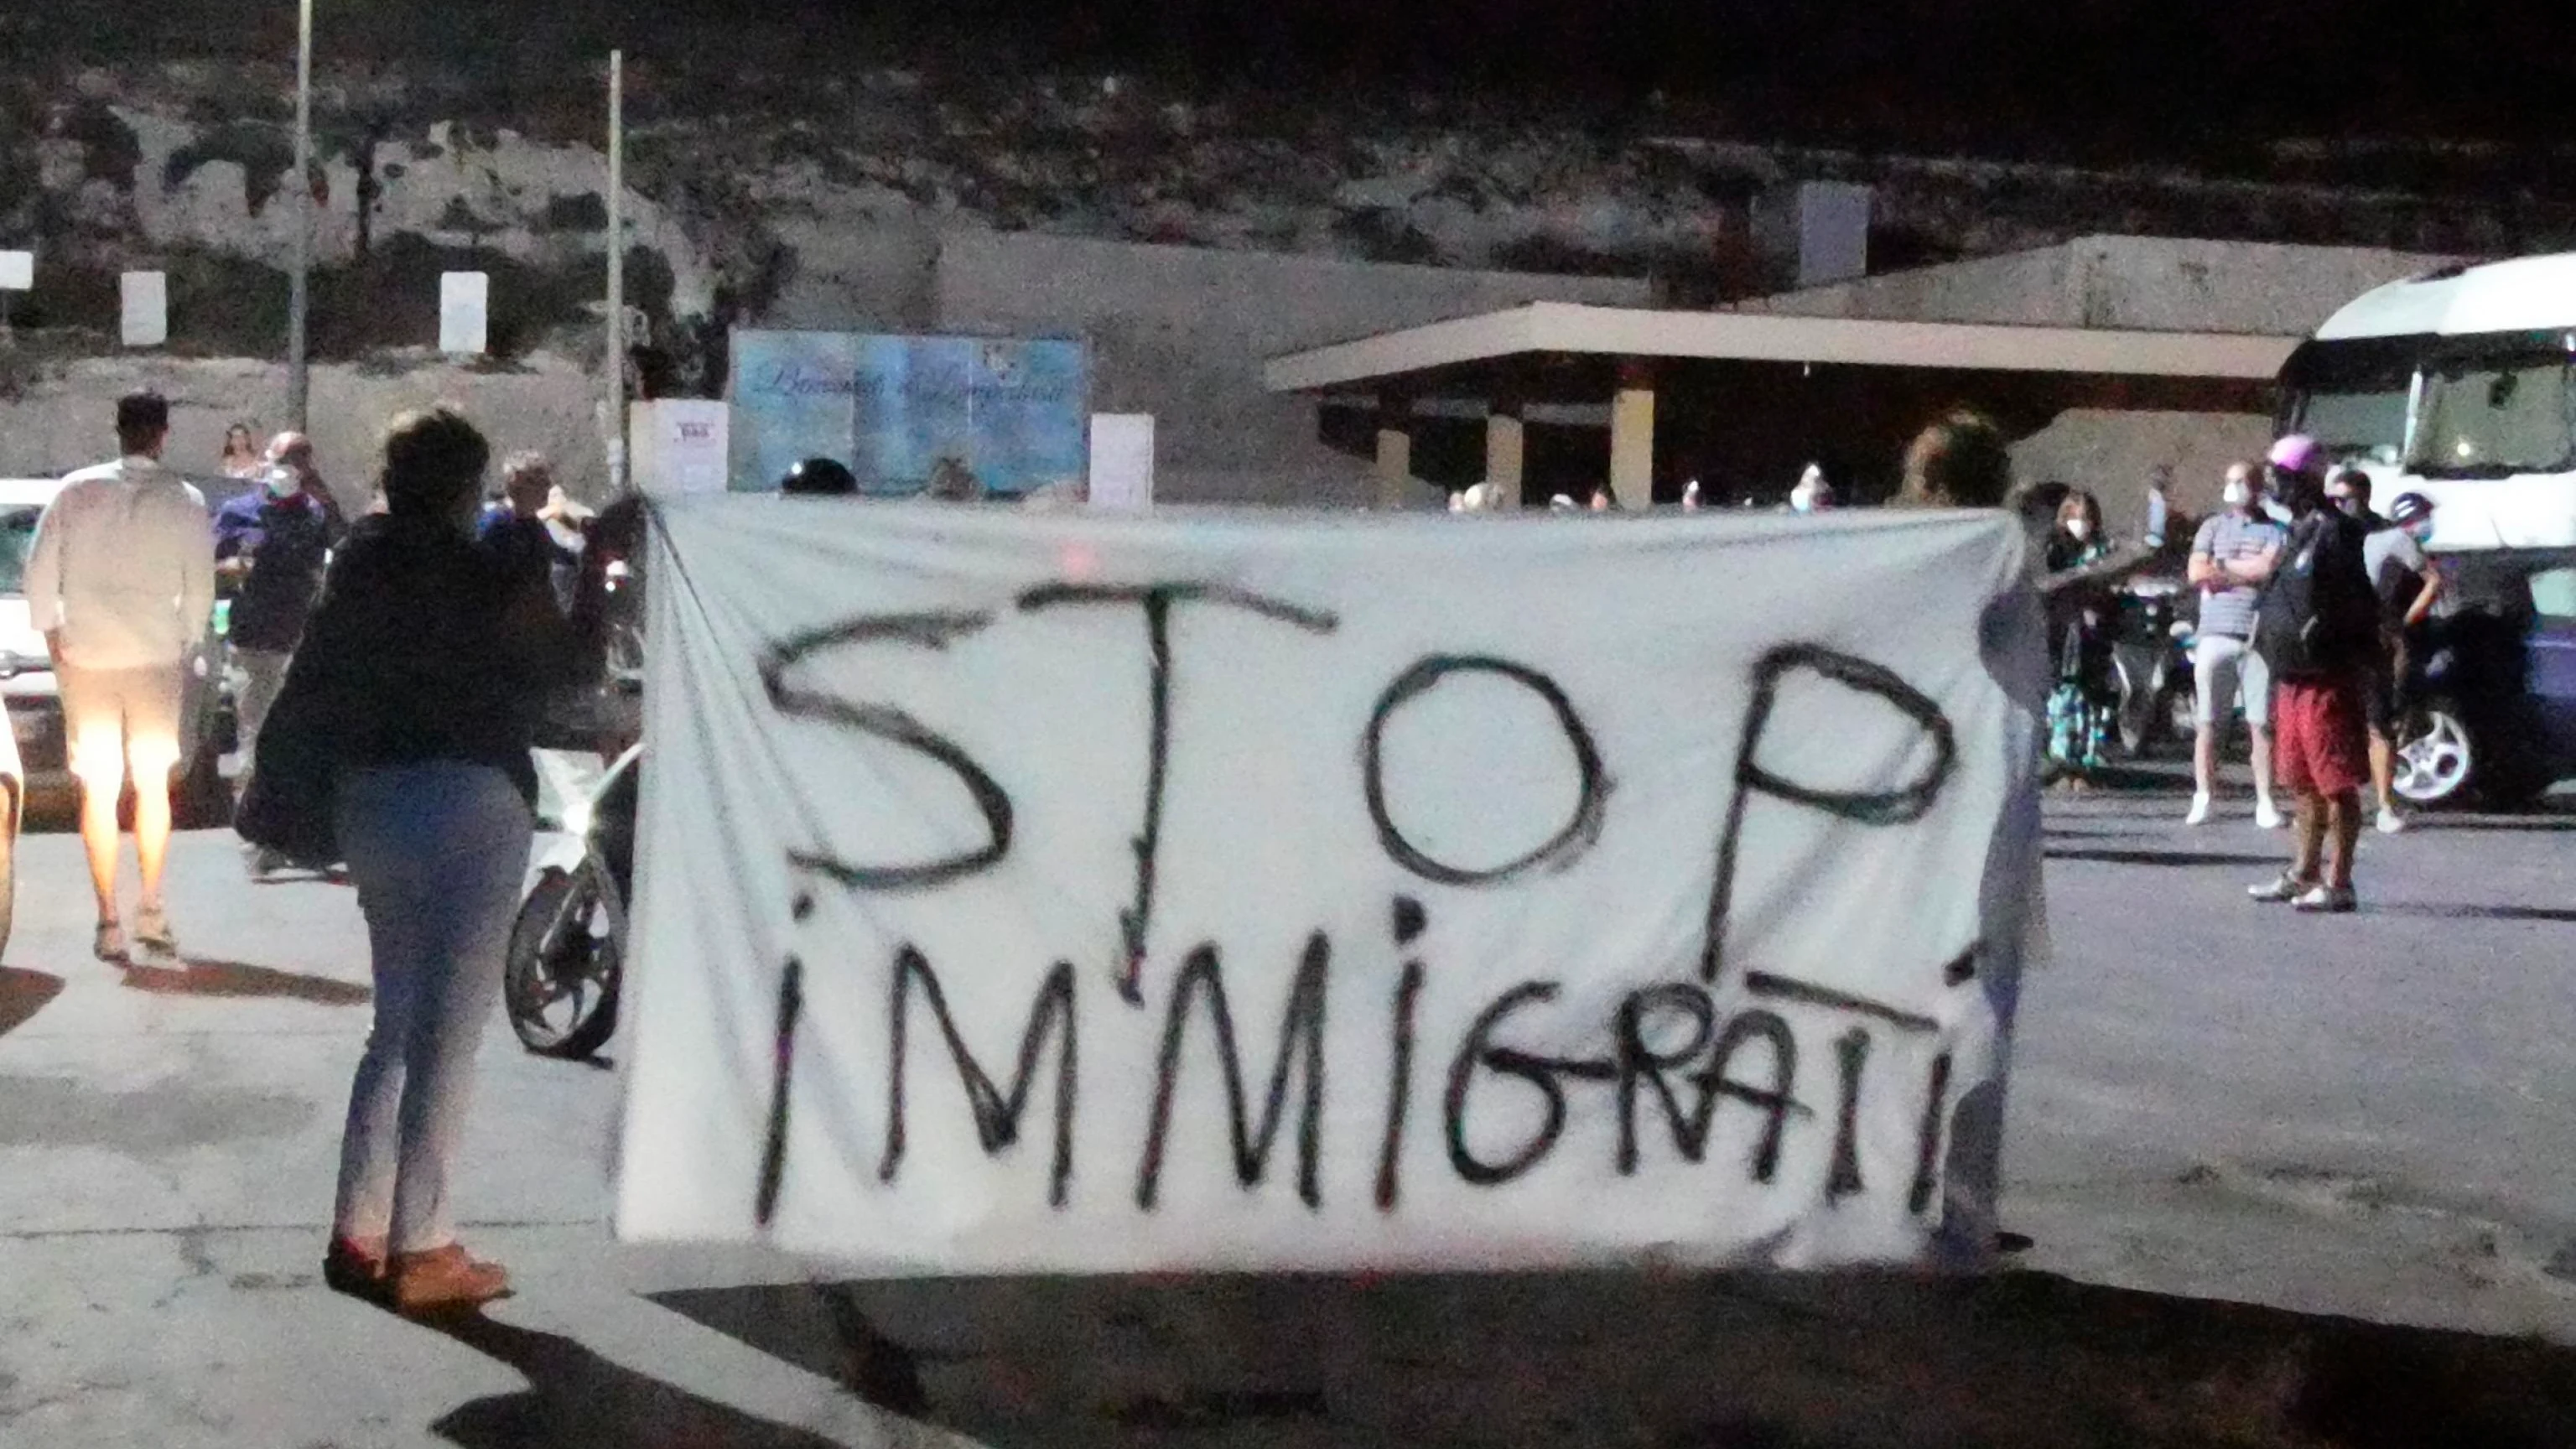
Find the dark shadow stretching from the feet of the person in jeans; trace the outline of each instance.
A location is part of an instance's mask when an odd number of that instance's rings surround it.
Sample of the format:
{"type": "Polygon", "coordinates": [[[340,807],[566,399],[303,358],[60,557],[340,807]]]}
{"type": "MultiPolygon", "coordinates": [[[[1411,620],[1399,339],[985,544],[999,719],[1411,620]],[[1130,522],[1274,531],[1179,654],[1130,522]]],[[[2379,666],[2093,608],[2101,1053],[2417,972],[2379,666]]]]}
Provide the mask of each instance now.
{"type": "Polygon", "coordinates": [[[430,1423],[464,1449],[842,1449],[804,1428],[698,1397],[677,1385],[613,1364],[562,1333],[495,1323],[479,1312],[420,1318],[528,1379],[510,1395],[466,1403],[430,1423]]]}

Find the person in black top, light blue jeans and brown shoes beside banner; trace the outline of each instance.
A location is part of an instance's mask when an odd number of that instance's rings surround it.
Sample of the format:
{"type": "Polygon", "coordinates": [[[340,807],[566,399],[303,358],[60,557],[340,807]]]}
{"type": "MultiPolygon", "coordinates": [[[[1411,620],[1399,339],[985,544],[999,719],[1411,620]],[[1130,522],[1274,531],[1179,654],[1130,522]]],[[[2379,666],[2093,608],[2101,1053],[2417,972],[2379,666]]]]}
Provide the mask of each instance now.
{"type": "Polygon", "coordinates": [[[541,578],[477,547],[489,456],[453,410],[394,420],[386,511],[332,559],[289,683],[330,730],[376,977],[325,1279],[404,1312],[507,1292],[456,1243],[448,1165],[528,869],[538,709],[598,652],[595,590],[567,621],[541,578]]]}

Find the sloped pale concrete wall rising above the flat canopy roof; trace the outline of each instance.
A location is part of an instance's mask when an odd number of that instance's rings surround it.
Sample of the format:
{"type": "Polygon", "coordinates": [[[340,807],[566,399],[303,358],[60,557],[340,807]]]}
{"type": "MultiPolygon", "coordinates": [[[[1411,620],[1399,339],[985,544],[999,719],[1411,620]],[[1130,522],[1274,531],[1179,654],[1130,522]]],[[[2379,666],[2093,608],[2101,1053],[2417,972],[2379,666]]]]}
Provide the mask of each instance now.
{"type": "Polygon", "coordinates": [[[2081,237],[1744,302],[1747,312],[2154,333],[2303,335],[2445,255],[2179,237],[2081,237]]]}

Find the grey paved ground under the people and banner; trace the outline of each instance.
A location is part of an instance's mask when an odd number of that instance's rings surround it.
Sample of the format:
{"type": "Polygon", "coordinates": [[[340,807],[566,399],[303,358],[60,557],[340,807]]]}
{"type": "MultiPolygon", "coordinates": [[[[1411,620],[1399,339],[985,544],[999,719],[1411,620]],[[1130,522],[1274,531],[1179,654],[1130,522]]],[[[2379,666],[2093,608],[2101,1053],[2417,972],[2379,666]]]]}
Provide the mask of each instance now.
{"type": "MultiPolygon", "coordinates": [[[[201,964],[121,975],[39,835],[0,967],[0,1444],[2287,1444],[2329,1400],[2357,1444],[2403,1441],[2391,1361],[2416,1400],[2576,1385],[2548,1346],[2161,1297],[2576,1343],[2576,817],[2372,838],[2370,910],[2293,920],[2241,895],[2280,838],[2179,804],[2053,810],[2025,1274],[811,1284],[611,1248],[613,1070],[495,1039],[459,1191],[523,1294],[448,1333],[314,1274],[350,895],[183,838],[201,964]]],[[[2576,1403],[2527,1405],[2561,1410],[2522,1441],[2576,1441],[2576,1403]]]]}

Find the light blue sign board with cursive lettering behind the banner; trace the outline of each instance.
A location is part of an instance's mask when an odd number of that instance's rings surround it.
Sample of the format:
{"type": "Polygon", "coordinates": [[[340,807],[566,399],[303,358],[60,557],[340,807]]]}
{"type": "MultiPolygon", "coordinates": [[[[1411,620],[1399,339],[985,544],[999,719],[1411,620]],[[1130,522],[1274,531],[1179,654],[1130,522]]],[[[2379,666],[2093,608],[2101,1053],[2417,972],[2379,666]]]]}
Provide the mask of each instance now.
{"type": "Polygon", "coordinates": [[[1090,472],[1090,348],[1038,338],[734,333],[734,490],[801,459],[850,464],[863,492],[920,492],[956,459],[989,492],[1090,472]]]}

